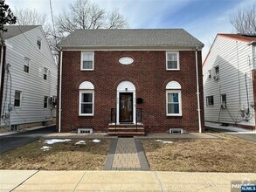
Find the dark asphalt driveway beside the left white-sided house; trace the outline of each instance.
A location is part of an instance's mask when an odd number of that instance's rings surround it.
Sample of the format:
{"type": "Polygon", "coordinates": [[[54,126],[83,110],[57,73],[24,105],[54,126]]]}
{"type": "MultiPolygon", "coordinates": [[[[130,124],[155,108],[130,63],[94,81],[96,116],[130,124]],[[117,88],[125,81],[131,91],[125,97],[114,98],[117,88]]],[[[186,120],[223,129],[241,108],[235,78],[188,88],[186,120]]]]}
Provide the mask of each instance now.
{"type": "Polygon", "coordinates": [[[45,134],[56,132],[56,127],[43,127],[36,130],[25,131],[17,134],[9,134],[0,137],[0,154],[10,149],[24,146],[25,144],[38,140],[45,134]]]}

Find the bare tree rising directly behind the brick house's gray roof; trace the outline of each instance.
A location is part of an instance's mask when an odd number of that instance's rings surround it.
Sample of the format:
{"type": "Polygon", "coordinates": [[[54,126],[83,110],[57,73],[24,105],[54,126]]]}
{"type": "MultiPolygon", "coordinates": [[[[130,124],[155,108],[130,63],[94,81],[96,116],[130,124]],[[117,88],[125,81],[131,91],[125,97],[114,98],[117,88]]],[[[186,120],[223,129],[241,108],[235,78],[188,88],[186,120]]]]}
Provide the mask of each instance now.
{"type": "Polygon", "coordinates": [[[62,10],[56,18],[56,26],[61,33],[71,33],[75,29],[127,28],[128,22],[119,10],[107,13],[89,0],[76,0],[69,10],[62,10]]]}

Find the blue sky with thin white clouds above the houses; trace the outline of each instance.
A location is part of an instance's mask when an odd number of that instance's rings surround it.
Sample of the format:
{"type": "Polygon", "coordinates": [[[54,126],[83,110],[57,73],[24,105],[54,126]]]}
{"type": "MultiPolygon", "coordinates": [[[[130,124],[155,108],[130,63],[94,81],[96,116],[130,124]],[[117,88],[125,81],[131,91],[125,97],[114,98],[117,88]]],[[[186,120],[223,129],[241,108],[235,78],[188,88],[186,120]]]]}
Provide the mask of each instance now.
{"type": "MultiPolygon", "coordinates": [[[[73,0],[52,0],[54,14],[73,0]]],[[[91,0],[105,10],[118,8],[130,28],[183,28],[204,43],[203,59],[217,33],[233,31],[230,14],[255,0],[91,0]]],[[[6,0],[10,8],[31,8],[50,16],[49,0],[6,0]]]]}

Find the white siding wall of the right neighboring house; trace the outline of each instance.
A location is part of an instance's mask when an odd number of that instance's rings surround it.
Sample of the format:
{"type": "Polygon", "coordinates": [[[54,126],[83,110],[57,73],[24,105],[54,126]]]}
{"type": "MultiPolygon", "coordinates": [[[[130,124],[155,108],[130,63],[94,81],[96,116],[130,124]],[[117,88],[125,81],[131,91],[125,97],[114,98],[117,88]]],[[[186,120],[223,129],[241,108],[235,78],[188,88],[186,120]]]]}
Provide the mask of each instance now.
{"type": "Polygon", "coordinates": [[[255,126],[254,109],[251,106],[249,121],[243,120],[240,115],[240,107],[248,108],[247,94],[249,105],[253,102],[252,58],[252,46],[248,43],[220,36],[215,39],[203,68],[205,121],[255,126]],[[208,71],[211,70],[213,76],[217,65],[219,79],[208,79],[208,71]],[[221,109],[221,94],[226,94],[226,109],[221,109]],[[211,95],[214,97],[214,106],[206,106],[206,97],[211,95]]]}

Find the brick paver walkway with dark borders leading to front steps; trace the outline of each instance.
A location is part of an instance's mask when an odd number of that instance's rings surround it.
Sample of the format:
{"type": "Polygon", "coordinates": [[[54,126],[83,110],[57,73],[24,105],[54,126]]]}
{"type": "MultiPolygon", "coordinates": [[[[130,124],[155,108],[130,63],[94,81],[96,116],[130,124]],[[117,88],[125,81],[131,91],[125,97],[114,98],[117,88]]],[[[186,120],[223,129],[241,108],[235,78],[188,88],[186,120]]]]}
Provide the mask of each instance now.
{"type": "Polygon", "coordinates": [[[112,143],[105,170],[149,170],[141,141],[134,138],[118,138],[112,143]]]}

